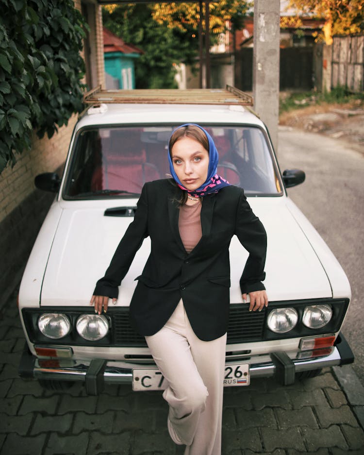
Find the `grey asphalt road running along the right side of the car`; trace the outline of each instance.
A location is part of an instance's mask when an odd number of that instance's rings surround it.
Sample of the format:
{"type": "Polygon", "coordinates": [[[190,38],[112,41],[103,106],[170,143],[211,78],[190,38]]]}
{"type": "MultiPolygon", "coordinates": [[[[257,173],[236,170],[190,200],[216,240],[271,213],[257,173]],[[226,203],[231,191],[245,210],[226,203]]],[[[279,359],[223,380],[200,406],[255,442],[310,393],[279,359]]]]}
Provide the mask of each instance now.
{"type": "Polygon", "coordinates": [[[281,171],[302,169],[306,180],[289,188],[298,205],[339,260],[352,299],[342,331],[355,355],[353,369],[364,385],[364,154],[349,142],[280,127],[281,171]]]}

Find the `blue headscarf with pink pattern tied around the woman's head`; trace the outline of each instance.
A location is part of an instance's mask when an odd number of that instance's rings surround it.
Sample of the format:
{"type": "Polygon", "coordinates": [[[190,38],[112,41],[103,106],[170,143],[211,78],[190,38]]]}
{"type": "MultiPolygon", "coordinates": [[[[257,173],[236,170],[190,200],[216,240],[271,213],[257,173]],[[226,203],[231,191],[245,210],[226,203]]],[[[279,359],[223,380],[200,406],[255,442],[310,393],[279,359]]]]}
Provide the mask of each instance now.
{"type": "Polygon", "coordinates": [[[202,184],[199,188],[197,188],[195,190],[188,190],[187,188],[185,188],[182,185],[182,183],[180,182],[180,179],[177,177],[177,174],[176,174],[176,172],[175,172],[175,170],[173,168],[171,152],[168,149],[169,170],[171,172],[171,175],[172,175],[173,179],[175,180],[177,185],[182,190],[187,191],[187,193],[189,195],[191,195],[191,196],[193,196],[195,198],[200,198],[200,197],[206,196],[207,194],[217,193],[224,186],[229,186],[230,183],[227,180],[225,180],[222,177],[220,177],[219,175],[217,175],[217,164],[218,164],[218,161],[219,161],[219,154],[217,152],[217,149],[216,149],[216,146],[215,146],[213,138],[209,135],[209,133],[206,130],[204,130],[201,126],[197,125],[196,123],[185,123],[184,125],[181,125],[178,128],[176,128],[172,132],[172,135],[178,129],[180,129],[180,128],[184,127],[184,126],[189,126],[189,125],[194,125],[194,126],[197,126],[198,128],[200,128],[205,133],[205,135],[207,137],[207,140],[209,141],[209,150],[208,150],[208,152],[209,152],[209,167],[207,169],[207,179],[206,179],[204,184],[202,184]]]}

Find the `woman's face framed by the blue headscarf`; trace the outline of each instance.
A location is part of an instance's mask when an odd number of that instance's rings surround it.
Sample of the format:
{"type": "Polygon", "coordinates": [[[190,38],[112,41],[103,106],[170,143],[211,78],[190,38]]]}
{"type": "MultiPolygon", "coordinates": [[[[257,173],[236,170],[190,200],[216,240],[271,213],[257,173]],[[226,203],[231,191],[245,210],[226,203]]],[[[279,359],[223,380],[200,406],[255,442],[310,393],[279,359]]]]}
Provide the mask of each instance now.
{"type": "Polygon", "coordinates": [[[209,152],[195,139],[184,136],[174,143],[172,163],[186,189],[193,191],[206,182],[209,152]]]}

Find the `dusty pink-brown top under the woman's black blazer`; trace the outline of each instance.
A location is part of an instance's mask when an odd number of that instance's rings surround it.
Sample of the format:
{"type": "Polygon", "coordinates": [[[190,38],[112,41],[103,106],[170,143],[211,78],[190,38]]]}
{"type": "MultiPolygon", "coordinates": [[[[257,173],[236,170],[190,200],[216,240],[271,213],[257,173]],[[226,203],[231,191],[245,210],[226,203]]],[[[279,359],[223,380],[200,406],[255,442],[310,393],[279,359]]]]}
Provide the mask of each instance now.
{"type": "Polygon", "coordinates": [[[184,204],[180,206],[178,227],[184,249],[187,253],[191,253],[202,236],[201,207],[202,204],[200,202],[193,205],[184,204]]]}

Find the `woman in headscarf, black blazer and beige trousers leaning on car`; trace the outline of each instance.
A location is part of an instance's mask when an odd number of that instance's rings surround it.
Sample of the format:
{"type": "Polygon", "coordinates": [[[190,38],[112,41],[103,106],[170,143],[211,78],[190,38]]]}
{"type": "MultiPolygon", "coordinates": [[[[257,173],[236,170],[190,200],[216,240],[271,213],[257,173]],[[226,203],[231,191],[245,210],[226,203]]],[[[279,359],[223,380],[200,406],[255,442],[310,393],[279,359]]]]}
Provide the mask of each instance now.
{"type": "Polygon", "coordinates": [[[173,179],[144,185],[135,217],[95,288],[95,312],[116,302],[118,286],[143,239],[151,252],[130,305],[169,386],[167,427],[185,455],[221,454],[221,415],[229,316],[229,244],[236,235],[249,257],[240,279],[249,311],[268,300],[262,280],[266,235],[241,188],[216,174],[218,153],[199,125],[177,128],[169,141],[173,179]],[[172,185],[171,185],[172,183],[172,185]]]}

